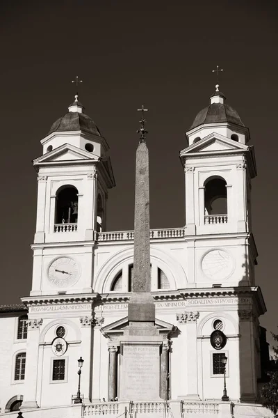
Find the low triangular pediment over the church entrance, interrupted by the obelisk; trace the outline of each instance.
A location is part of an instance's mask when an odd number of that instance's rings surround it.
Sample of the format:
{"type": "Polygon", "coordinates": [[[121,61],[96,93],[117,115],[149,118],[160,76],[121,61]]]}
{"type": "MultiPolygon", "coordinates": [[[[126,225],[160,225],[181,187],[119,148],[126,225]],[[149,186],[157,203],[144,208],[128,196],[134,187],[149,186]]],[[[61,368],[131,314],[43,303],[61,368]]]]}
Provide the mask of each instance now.
{"type": "MultiPolygon", "coordinates": [[[[116,320],[115,322],[106,325],[105,327],[101,328],[102,334],[108,337],[109,339],[115,340],[120,335],[124,334],[124,330],[129,325],[128,317],[125,316],[120,320],[116,320]]],[[[177,327],[171,323],[167,323],[164,320],[157,319],[155,320],[155,326],[159,331],[159,334],[167,336],[170,332],[174,332],[177,330],[177,327]]]]}

